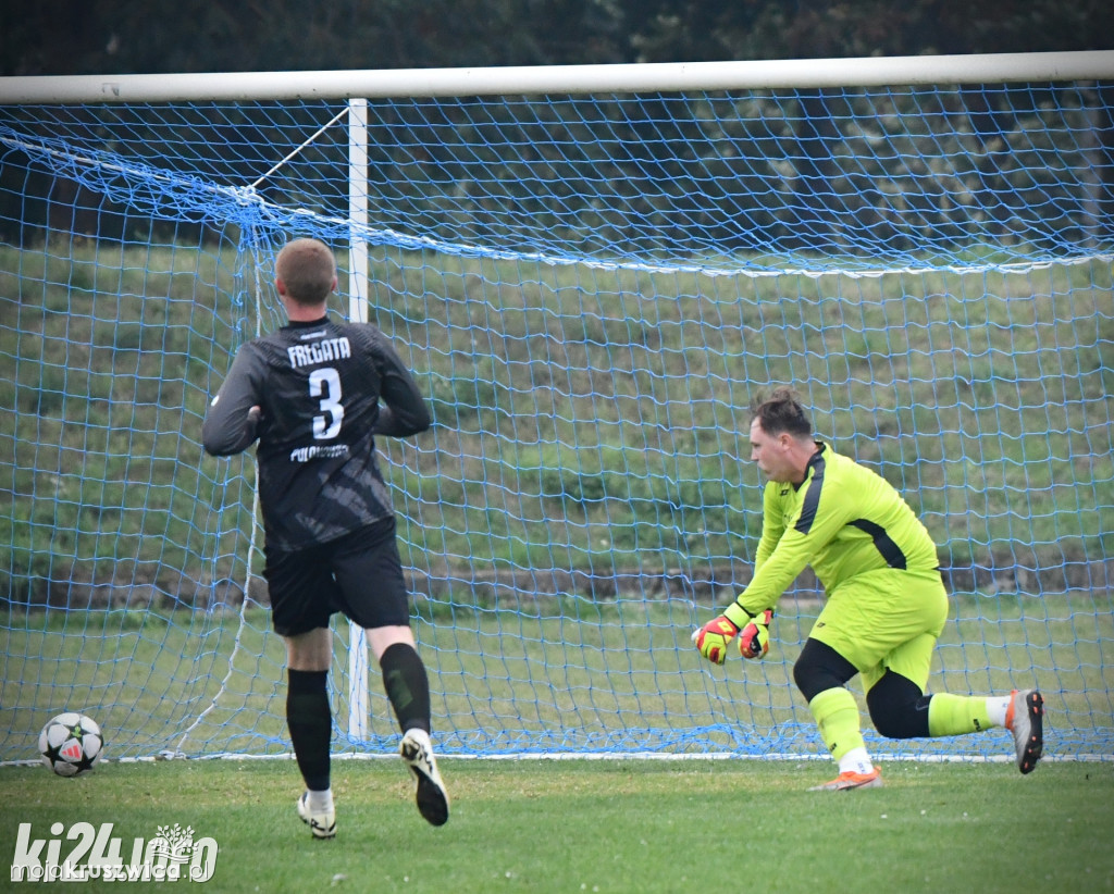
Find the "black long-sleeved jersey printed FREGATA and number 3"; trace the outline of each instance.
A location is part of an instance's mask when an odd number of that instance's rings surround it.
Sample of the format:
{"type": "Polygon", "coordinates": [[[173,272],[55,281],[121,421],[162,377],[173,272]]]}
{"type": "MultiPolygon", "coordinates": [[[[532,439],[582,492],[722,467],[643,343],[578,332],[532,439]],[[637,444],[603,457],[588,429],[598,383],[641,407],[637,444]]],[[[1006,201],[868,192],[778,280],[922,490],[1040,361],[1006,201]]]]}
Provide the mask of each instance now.
{"type": "Polygon", "coordinates": [[[266,544],[296,550],[388,518],[393,509],[374,435],[401,438],[430,424],[387,337],[369,323],[323,317],[290,323],[236,352],[202,441],[225,456],[258,439],[266,544]],[[258,420],[250,415],[256,405],[258,420]]]}

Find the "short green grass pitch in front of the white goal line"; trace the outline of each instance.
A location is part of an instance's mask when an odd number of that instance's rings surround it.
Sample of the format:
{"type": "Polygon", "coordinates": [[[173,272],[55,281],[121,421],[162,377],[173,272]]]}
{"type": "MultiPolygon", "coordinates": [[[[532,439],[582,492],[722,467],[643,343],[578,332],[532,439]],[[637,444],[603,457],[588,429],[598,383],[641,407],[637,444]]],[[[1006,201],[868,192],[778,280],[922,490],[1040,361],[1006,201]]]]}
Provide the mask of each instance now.
{"type": "MultiPolygon", "coordinates": [[[[452,816],[428,826],[393,759],[335,760],[338,835],[297,819],[292,760],[109,763],[62,779],[0,767],[0,848],[20,823],[130,842],[190,827],[228,892],[994,892],[1114,890],[1114,765],[887,763],[886,787],[813,793],[828,762],[446,758],[452,816]]],[[[62,842],[61,853],[72,847],[62,842]]],[[[9,887],[10,885],[10,887],[9,887]]],[[[189,890],[192,882],[0,891],[189,890]]]]}

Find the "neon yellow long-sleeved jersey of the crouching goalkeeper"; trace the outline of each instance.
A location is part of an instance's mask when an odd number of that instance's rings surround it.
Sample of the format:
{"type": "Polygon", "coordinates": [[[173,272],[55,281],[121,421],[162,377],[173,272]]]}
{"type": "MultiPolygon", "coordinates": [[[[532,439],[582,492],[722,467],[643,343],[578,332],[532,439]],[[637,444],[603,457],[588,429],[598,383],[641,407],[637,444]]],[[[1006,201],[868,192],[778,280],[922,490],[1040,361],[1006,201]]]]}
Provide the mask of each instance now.
{"type": "Polygon", "coordinates": [[[739,596],[751,615],[771,608],[811,566],[827,592],[882,568],[932,571],[936,544],[881,475],[818,442],[804,481],[771,481],[762,498],[754,578],[739,596]]]}

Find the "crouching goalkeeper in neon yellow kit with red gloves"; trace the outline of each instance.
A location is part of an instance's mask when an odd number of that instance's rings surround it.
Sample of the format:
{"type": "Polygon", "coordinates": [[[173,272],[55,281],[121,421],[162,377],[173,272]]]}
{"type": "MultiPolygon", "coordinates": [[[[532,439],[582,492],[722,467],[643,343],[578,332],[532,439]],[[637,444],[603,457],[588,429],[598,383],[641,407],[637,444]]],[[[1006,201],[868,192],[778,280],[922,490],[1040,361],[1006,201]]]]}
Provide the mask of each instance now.
{"type": "Polygon", "coordinates": [[[854,696],[844,688],[856,674],[883,736],[958,736],[1004,726],[1014,735],[1018,768],[1029,773],[1044,744],[1037,690],[925,694],[948,600],[936,547],[920,520],[880,475],[813,440],[791,389],[774,390],[752,411],[751,459],[769,478],[754,577],[723,615],[693,633],[701,655],[722,664],[737,636],[744,658],[764,656],[778,599],[811,566],[827,601],[793,679],[839,763],[839,775],[814,790],[882,784],[863,744],[854,696]]]}

